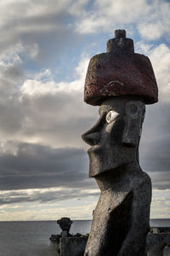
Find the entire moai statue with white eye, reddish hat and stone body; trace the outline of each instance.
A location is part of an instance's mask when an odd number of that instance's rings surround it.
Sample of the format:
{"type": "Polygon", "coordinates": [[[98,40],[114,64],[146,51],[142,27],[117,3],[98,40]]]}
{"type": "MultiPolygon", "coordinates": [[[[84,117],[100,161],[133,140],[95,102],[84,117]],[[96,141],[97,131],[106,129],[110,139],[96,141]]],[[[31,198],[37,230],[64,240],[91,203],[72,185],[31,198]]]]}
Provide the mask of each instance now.
{"type": "Polygon", "coordinates": [[[157,94],[149,58],[116,30],[107,53],[90,60],[85,81],[84,101],[100,106],[96,125],[82,135],[91,146],[89,177],[100,189],[85,256],[146,255],[151,183],[139,166],[139,139],[145,104],[157,94]]]}

